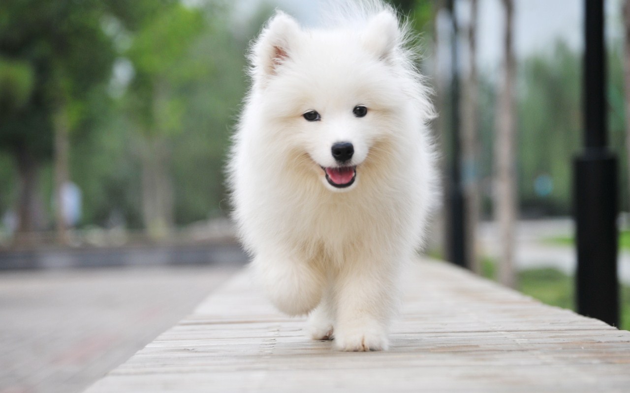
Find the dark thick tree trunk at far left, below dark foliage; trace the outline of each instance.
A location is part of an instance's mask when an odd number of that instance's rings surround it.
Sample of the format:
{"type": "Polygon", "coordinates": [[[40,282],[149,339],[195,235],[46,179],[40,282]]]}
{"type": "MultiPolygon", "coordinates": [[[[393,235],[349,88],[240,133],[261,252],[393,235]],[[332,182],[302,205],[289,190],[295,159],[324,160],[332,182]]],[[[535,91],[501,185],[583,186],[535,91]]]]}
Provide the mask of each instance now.
{"type": "Polygon", "coordinates": [[[20,245],[28,242],[33,232],[42,229],[43,207],[38,192],[39,163],[26,149],[16,152],[15,158],[20,184],[15,243],[20,245]]]}

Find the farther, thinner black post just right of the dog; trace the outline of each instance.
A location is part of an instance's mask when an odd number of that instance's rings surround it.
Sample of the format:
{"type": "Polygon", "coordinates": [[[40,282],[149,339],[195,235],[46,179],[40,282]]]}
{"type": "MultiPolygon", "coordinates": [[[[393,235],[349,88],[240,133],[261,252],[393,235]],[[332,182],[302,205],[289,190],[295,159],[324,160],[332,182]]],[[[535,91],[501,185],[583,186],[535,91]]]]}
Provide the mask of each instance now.
{"type": "Polygon", "coordinates": [[[457,17],[455,16],[455,0],[449,1],[450,18],[452,21],[451,36],[451,68],[450,80],[451,116],[450,137],[452,159],[450,163],[450,182],[447,194],[447,258],[450,262],[462,267],[469,267],[466,255],[466,225],[464,219],[465,201],[464,186],[461,176],[461,148],[459,138],[459,58],[457,47],[457,17]]]}

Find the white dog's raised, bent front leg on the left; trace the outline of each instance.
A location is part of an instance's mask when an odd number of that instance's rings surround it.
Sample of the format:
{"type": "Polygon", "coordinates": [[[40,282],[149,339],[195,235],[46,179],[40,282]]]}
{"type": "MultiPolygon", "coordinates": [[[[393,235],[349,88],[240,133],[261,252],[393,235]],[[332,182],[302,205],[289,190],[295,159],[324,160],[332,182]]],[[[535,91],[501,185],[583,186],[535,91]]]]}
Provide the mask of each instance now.
{"type": "Polygon", "coordinates": [[[282,253],[259,254],[252,265],[266,295],[283,313],[308,314],[321,301],[326,284],[321,268],[282,253]]]}

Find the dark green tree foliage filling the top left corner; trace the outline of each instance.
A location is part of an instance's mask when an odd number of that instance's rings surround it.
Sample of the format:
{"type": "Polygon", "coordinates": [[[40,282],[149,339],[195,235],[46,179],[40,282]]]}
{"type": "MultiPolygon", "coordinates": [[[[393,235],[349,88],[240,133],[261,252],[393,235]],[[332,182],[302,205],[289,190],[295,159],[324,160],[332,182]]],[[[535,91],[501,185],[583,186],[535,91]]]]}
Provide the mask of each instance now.
{"type": "Polygon", "coordinates": [[[103,2],[7,0],[0,6],[0,53],[37,74],[44,104],[82,99],[110,74],[113,50],[100,28],[103,2]]]}

